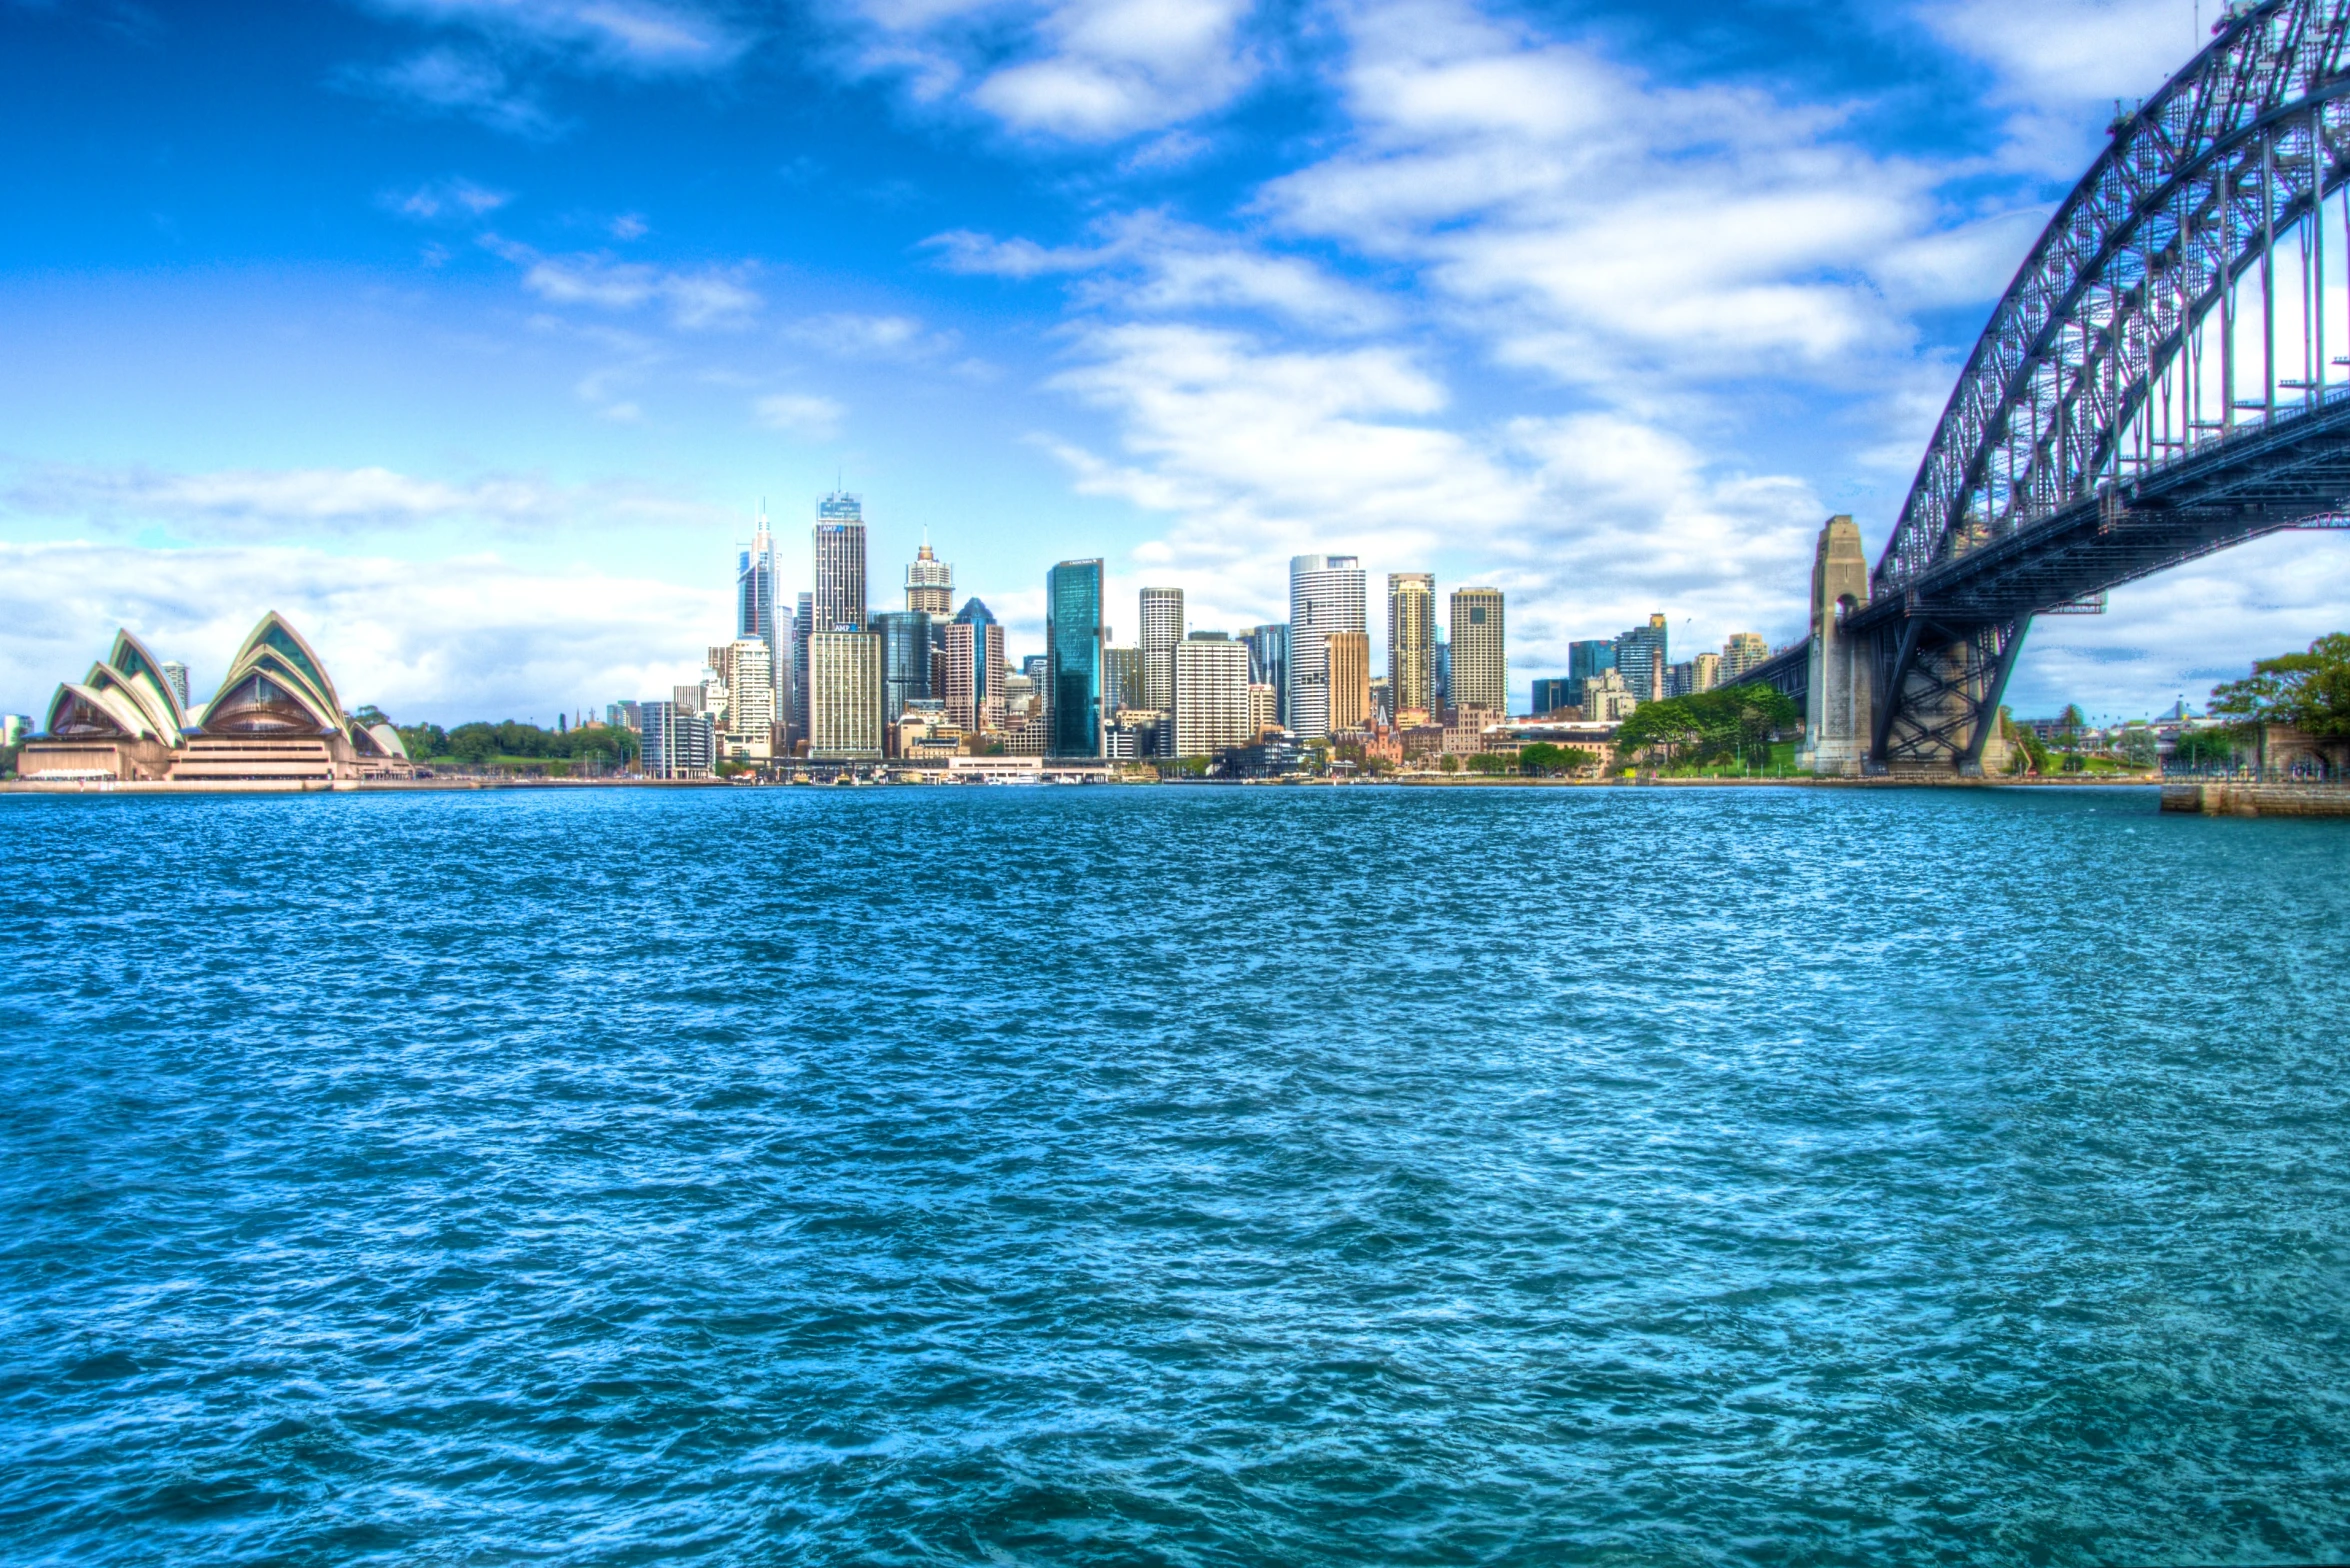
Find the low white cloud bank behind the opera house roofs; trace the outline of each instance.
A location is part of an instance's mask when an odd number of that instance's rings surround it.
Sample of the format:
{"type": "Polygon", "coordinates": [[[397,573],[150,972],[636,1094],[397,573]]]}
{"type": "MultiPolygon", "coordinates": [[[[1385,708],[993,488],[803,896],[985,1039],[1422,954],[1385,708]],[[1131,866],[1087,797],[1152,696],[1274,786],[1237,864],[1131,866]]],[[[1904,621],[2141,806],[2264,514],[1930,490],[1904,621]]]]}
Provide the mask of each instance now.
{"type": "Polygon", "coordinates": [[[0,543],[0,708],[40,712],[129,628],[209,693],[263,611],[294,621],[350,705],[400,722],[538,719],[693,679],[724,588],[294,548],[0,543]]]}

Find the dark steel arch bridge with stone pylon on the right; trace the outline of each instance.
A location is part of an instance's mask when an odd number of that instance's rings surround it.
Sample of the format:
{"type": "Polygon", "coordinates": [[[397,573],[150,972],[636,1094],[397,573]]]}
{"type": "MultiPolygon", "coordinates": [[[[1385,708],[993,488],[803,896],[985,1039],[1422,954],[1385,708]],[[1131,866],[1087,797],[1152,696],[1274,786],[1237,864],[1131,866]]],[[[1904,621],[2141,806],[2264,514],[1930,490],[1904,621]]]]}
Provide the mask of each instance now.
{"type": "Polygon", "coordinates": [[[1748,675],[1807,703],[1814,766],[1979,771],[2033,616],[2350,512],[2345,35],[2350,0],[2235,5],[2115,118],[1866,588],[1824,541],[1812,635],[1748,675]]]}

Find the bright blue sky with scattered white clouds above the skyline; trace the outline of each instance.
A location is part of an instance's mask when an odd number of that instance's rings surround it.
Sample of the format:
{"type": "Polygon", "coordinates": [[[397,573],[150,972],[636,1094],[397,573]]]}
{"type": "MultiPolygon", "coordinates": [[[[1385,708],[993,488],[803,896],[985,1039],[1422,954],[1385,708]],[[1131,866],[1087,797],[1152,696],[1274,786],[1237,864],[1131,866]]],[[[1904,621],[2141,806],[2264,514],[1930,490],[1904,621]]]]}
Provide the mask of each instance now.
{"type": "MultiPolygon", "coordinates": [[[[0,0],[0,710],[268,609],[400,722],[602,710],[862,496],[1010,651],[1509,595],[1511,689],[1652,611],[1800,635],[2197,0],[0,0]]],[[[2284,534],[2042,618],[2019,712],[2350,625],[2284,534]]]]}

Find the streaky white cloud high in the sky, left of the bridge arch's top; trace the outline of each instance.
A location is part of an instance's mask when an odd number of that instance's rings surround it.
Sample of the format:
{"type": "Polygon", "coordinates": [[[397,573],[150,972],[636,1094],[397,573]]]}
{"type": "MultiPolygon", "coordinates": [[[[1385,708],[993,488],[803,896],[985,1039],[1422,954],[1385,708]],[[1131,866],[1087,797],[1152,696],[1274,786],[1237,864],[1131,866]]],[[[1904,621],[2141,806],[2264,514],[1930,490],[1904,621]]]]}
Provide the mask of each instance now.
{"type": "Polygon", "coordinates": [[[1441,0],[1351,12],[1347,96],[1349,146],[1262,212],[1415,266],[1504,362],[1849,383],[1908,350],[1875,273],[1936,228],[1939,174],[1840,139],[1835,108],[1650,82],[1441,0]]]}

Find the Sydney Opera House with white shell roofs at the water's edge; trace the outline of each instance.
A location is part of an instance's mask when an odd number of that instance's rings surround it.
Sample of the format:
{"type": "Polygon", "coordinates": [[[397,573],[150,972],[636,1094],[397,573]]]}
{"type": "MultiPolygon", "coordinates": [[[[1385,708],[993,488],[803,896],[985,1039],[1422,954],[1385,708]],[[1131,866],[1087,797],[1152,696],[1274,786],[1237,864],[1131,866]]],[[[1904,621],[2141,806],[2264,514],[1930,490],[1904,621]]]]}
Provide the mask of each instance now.
{"type": "Polygon", "coordinates": [[[188,708],[129,632],[89,675],[49,698],[47,733],[26,741],[19,778],[336,785],[409,776],[390,724],[343,712],[327,665],[275,611],[228,663],[228,679],[188,708]]]}

